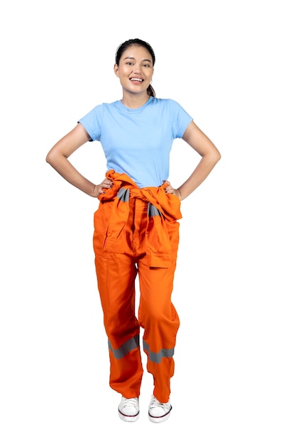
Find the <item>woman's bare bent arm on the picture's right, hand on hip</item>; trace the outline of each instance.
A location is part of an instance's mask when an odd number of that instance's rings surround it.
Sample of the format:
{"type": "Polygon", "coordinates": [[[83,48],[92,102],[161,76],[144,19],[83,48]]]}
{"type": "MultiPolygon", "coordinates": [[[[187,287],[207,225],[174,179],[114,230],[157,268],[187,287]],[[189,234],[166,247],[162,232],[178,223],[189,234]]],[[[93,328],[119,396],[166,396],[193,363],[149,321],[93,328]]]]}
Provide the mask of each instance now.
{"type": "Polygon", "coordinates": [[[204,182],[214,166],[221,159],[221,154],[214,143],[192,121],[182,137],[202,157],[190,177],[178,188],[173,189],[170,184],[166,189],[169,194],[176,194],[180,200],[189,196],[194,189],[204,182]]]}

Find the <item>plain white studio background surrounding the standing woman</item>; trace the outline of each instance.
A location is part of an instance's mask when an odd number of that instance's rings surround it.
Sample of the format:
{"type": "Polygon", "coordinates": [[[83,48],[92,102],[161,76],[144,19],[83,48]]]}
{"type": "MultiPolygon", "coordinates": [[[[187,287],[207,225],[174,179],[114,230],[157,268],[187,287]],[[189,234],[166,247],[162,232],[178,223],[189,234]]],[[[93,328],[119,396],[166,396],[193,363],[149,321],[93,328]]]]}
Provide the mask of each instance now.
{"type": "MultiPolygon", "coordinates": [[[[1,6],[1,444],[295,444],[292,4],[1,6]],[[45,163],[80,117],[121,99],[114,55],[128,38],[152,45],[157,96],[179,101],[222,156],[182,202],[172,295],[181,326],[163,424],[147,418],[147,373],[141,418],[118,418],[92,252],[97,200],[45,163]]],[[[172,184],[197,161],[177,140],[172,184]]],[[[102,182],[99,143],[72,162],[102,182]]]]}

